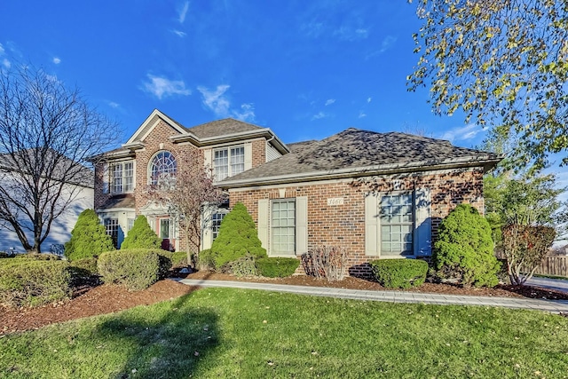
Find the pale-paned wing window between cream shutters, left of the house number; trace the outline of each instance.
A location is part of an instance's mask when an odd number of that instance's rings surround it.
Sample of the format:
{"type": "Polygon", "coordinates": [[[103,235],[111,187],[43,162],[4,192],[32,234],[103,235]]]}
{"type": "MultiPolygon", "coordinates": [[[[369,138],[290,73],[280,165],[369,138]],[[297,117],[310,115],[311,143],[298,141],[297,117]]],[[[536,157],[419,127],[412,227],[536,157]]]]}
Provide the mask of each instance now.
{"type": "Polygon", "coordinates": [[[272,201],[272,253],[290,255],[296,251],[296,201],[272,201]]]}

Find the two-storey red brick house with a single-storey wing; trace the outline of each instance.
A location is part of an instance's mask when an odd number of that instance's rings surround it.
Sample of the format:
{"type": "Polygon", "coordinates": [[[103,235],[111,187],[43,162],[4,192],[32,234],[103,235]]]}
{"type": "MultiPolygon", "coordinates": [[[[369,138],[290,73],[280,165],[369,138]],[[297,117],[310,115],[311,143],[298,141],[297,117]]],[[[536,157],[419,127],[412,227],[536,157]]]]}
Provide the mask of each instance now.
{"type": "MultiPolygon", "coordinates": [[[[247,122],[185,128],[154,110],[97,165],[95,207],[117,241],[144,214],[164,240],[185,249],[165,209],[143,188],[177,170],[175,155],[191,149],[200,152],[195,164],[211,167],[229,193],[229,206],[247,206],[269,257],[341,246],[351,274],[366,272],[377,258],[430,257],[440,221],[457,204],[483,212],[483,174],[500,161],[445,140],[356,129],[287,146],[272,130],[247,122]]],[[[214,215],[203,249],[222,217],[223,210],[214,215]]]]}

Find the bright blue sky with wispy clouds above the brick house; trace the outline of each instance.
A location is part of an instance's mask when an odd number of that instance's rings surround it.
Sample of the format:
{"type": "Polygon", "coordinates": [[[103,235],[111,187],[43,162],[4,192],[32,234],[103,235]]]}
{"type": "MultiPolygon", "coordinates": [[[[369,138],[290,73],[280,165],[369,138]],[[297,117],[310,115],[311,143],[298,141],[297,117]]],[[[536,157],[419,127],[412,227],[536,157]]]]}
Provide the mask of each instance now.
{"type": "Polygon", "coordinates": [[[154,108],[187,127],[234,117],[285,142],[349,127],[475,146],[484,131],[406,91],[415,5],[398,1],[12,1],[0,65],[32,63],[122,125],[154,108]]]}

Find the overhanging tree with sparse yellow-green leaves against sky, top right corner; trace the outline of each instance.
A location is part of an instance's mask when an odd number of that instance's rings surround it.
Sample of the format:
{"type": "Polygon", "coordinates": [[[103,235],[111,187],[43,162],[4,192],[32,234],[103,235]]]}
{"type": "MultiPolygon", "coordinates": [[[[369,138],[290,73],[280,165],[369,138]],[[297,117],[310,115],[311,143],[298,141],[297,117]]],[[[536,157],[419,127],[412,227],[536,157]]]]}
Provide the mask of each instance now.
{"type": "Polygon", "coordinates": [[[420,59],[410,91],[430,86],[437,114],[517,136],[517,167],[568,164],[568,7],[561,0],[417,0],[420,59]]]}

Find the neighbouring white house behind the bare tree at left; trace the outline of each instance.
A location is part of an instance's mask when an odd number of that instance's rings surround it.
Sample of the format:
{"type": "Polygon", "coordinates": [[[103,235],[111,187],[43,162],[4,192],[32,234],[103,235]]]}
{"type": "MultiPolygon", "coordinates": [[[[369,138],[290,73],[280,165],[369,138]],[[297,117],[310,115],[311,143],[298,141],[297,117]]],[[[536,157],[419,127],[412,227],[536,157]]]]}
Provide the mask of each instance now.
{"type": "Polygon", "coordinates": [[[93,207],[93,172],[52,150],[39,154],[35,154],[33,149],[22,151],[22,159],[18,162],[15,162],[14,156],[18,154],[0,154],[0,197],[3,198],[0,212],[9,210],[6,217],[0,215],[0,251],[25,252],[18,234],[6,219],[9,215],[15,216],[30,244],[34,244],[34,227],[30,219],[34,212],[29,199],[36,195],[39,208],[45,207],[42,212],[44,222],[53,217],[49,231],[48,225],[43,225],[42,235],[49,233],[41,244],[41,251],[62,254],[63,244],[70,240],[77,217],[84,209],[93,207]],[[58,156],[53,157],[53,154],[58,156]],[[35,160],[50,164],[43,165],[41,169],[35,160]],[[34,167],[29,168],[29,165],[34,167]],[[28,180],[34,170],[40,188],[37,192],[30,189],[33,180],[28,180]],[[22,183],[28,184],[22,186],[22,183]],[[59,193],[57,201],[54,193],[59,193]],[[31,216],[26,215],[26,211],[31,216]]]}

